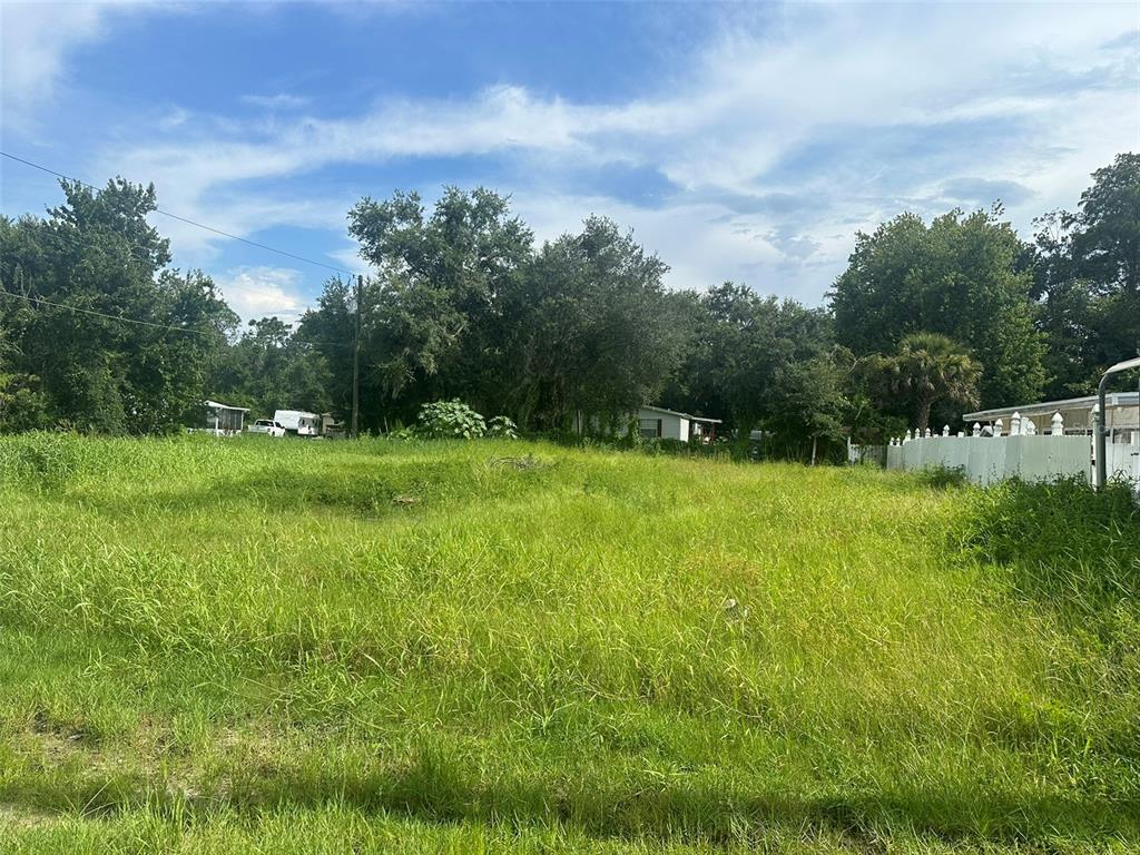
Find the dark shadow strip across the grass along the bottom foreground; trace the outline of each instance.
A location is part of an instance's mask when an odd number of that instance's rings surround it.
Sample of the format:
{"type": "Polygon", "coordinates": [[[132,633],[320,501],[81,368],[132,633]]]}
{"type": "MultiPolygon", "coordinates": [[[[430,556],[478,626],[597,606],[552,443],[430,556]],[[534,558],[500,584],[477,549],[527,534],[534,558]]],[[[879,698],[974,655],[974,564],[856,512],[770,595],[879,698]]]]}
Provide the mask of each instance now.
{"type": "Polygon", "coordinates": [[[435,824],[569,826],[593,838],[741,845],[765,836],[811,840],[838,837],[865,852],[889,852],[894,833],[928,841],[1026,846],[1051,841],[1140,846],[1140,799],[1013,796],[927,789],[805,797],[741,795],[714,787],[598,780],[480,782],[462,769],[422,758],[402,769],[347,776],[331,769],[283,773],[262,767],[228,781],[225,795],[179,793],[139,776],[87,776],[63,785],[0,788],[34,809],[93,816],[139,807],[172,820],[207,822],[219,812],[255,816],[279,809],[349,807],[435,824]]]}

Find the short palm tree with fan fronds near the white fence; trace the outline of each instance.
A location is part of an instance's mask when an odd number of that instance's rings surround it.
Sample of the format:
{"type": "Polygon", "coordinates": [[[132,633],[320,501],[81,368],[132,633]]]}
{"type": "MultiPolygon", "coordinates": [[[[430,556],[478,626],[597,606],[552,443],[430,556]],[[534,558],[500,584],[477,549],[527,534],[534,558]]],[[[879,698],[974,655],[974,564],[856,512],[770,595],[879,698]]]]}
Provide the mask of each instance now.
{"type": "Polygon", "coordinates": [[[912,333],[898,343],[898,352],[879,359],[888,389],[914,398],[919,432],[930,424],[930,407],[950,400],[966,406],[978,401],[982,366],[953,339],[938,333],[912,333]]]}

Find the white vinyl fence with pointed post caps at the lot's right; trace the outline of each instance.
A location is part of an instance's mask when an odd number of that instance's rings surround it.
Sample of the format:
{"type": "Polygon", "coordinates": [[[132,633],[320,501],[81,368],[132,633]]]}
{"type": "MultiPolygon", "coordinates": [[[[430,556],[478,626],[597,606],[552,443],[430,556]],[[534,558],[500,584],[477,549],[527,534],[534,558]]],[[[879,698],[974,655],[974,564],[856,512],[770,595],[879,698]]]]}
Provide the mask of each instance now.
{"type": "MultiPolygon", "coordinates": [[[[942,435],[893,439],[887,447],[887,469],[960,469],[975,483],[988,484],[1008,478],[1024,481],[1053,481],[1059,478],[1083,478],[1093,481],[1093,442],[1088,434],[1066,435],[1059,416],[1053,417],[1048,434],[1036,434],[1035,429],[1024,433],[1019,416],[1010,420],[1010,433],[1001,433],[1001,422],[992,435],[983,435],[980,425],[974,425],[970,435],[950,435],[944,427],[942,435]]],[[[1032,425],[1032,422],[1026,421],[1032,425]]],[[[1140,482],[1140,441],[1108,445],[1109,478],[1140,482]]]]}

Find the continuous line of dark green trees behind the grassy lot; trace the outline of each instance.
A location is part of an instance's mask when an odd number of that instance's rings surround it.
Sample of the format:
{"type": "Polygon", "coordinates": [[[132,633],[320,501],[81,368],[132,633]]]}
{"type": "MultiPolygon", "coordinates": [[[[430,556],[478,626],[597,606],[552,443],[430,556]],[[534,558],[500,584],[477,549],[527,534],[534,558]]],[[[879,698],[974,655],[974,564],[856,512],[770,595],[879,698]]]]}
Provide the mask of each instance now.
{"type": "Polygon", "coordinates": [[[1020,237],[995,204],[858,234],[822,307],[739,283],[663,285],[665,261],[587,218],[538,244],[510,199],[446,188],[364,198],[349,231],[376,274],[331,278],[295,324],[239,325],[214,282],[170,267],[153,186],[62,182],[43,217],[0,218],[0,430],[154,433],[205,398],[360,424],[462,399],[530,433],[612,433],[642,404],[725,421],[769,454],[954,424],[964,407],[1090,393],[1140,348],[1140,155],[1020,237]]]}

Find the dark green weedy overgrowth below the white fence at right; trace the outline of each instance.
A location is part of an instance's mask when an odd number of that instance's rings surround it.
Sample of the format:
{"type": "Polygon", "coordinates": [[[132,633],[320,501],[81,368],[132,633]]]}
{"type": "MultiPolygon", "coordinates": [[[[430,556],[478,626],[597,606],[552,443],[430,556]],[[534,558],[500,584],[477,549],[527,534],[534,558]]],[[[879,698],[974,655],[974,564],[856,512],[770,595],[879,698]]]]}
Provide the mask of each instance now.
{"type": "MultiPolygon", "coordinates": [[[[995,576],[1012,600],[1067,632],[1068,645],[1059,651],[1054,673],[1073,675],[1100,697],[1117,699],[1113,718],[1096,728],[1085,726],[1076,710],[1050,710],[1058,730],[1092,751],[1108,747],[1135,764],[1140,507],[1132,488],[1110,483],[1093,490],[1080,479],[1007,481],[971,494],[967,511],[955,539],[980,560],[997,564],[995,576]]],[[[1089,772],[1075,774],[1091,779],[1089,772]]]]}

